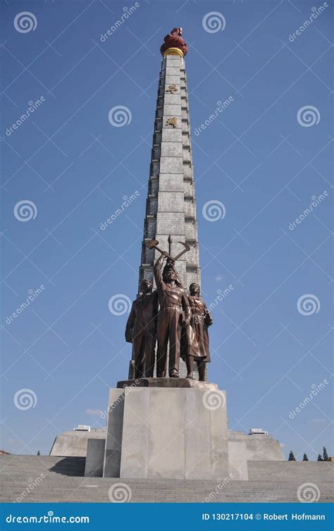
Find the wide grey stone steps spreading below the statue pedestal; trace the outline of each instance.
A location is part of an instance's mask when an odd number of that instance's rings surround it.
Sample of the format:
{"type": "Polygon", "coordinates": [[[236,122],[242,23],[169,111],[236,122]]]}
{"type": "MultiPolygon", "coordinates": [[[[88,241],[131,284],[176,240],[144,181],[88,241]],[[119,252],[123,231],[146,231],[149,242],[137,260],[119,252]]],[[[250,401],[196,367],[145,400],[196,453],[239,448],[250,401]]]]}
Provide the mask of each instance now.
{"type": "MultiPolygon", "coordinates": [[[[292,502],[312,483],[311,497],[334,501],[334,463],[249,461],[249,481],[135,480],[83,477],[85,458],[0,456],[0,501],[23,502],[292,502]],[[114,487],[109,498],[109,489],[114,487]],[[119,497],[118,497],[119,496],[119,497]]],[[[307,494],[305,494],[306,496],[307,494]]]]}

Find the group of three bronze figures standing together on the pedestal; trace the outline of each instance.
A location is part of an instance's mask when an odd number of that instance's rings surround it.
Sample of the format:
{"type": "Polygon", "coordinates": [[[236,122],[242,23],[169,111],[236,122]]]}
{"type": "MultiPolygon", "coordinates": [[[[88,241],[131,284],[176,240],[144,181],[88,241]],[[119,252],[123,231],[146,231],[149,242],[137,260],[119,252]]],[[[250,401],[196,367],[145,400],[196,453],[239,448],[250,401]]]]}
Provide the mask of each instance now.
{"type": "Polygon", "coordinates": [[[187,295],[175,261],[166,252],[154,264],[154,279],[154,291],[151,281],[142,281],[141,295],[132,303],[126,324],[125,340],[133,346],[134,377],[153,377],[155,362],[156,377],[166,377],[169,345],[169,377],[179,377],[180,358],[183,358],[187,378],[193,379],[192,367],[196,361],[199,380],[204,382],[206,363],[210,361],[208,327],[213,321],[199,285],[190,284],[190,295],[187,295]]]}

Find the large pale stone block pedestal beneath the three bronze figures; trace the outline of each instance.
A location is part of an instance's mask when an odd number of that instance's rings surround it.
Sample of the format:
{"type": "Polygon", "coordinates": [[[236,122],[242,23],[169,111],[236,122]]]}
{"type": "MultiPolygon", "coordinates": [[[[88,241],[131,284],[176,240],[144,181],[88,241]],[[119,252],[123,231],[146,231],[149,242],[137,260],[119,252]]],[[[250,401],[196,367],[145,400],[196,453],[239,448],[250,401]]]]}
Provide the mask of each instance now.
{"type": "Polygon", "coordinates": [[[225,391],[194,380],[187,387],[177,386],[183,379],[142,380],[147,386],[119,382],[109,391],[104,477],[228,477],[225,391]]]}

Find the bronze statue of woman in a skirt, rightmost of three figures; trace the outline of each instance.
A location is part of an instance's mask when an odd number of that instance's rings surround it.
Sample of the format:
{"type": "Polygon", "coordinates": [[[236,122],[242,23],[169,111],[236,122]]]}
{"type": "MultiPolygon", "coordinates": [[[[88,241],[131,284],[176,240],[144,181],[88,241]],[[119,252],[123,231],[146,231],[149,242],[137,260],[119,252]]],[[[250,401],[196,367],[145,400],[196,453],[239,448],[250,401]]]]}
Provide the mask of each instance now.
{"type": "Polygon", "coordinates": [[[195,282],[190,284],[189,291],[190,295],[188,295],[188,300],[191,317],[190,325],[186,327],[186,333],[183,336],[186,339],[183,355],[185,356],[187,365],[187,378],[193,378],[192,365],[196,361],[199,380],[204,382],[206,363],[211,361],[208,326],[211,326],[213,319],[200,296],[199,285],[195,282]]]}

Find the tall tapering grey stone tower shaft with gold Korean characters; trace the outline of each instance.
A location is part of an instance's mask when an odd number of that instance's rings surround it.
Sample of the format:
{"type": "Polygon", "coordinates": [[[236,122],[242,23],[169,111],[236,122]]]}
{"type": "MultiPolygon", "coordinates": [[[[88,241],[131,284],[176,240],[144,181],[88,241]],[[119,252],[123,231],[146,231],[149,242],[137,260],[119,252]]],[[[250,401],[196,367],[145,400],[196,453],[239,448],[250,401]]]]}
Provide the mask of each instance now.
{"type": "MultiPolygon", "coordinates": [[[[178,242],[190,246],[176,264],[183,286],[188,290],[192,282],[200,285],[185,58],[182,49],[167,44],[156,100],[139,285],[142,279],[154,283],[153,266],[160,256],[156,250],[148,249],[145,242],[159,240],[159,247],[168,250],[169,236],[172,256],[184,249],[178,242]]],[[[185,364],[180,365],[180,375],[185,376],[185,364]]],[[[132,377],[133,360],[129,370],[129,378],[132,377]]]]}

